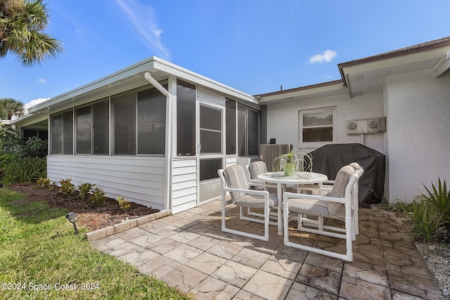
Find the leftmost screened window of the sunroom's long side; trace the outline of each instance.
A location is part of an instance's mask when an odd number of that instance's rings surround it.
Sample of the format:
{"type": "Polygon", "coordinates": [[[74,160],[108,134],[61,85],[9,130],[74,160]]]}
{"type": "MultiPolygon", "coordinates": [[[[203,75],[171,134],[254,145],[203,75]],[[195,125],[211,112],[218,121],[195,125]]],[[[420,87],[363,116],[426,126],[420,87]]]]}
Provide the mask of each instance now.
{"type": "Polygon", "coordinates": [[[73,154],[73,112],[50,117],[51,154],[73,154]]]}

